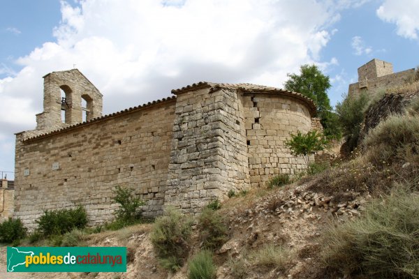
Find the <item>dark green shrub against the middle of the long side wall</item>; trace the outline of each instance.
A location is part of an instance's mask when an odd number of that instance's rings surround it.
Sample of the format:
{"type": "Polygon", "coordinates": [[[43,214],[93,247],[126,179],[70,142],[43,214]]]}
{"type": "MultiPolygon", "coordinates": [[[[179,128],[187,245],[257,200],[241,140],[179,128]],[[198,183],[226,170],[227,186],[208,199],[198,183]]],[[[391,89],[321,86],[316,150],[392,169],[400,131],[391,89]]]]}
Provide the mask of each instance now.
{"type": "Polygon", "coordinates": [[[115,217],[119,220],[126,220],[128,223],[134,223],[135,220],[140,219],[141,212],[138,211],[138,208],[145,204],[132,192],[133,189],[117,186],[114,190],[115,197],[112,198],[119,204],[119,209],[114,212],[115,217]]]}

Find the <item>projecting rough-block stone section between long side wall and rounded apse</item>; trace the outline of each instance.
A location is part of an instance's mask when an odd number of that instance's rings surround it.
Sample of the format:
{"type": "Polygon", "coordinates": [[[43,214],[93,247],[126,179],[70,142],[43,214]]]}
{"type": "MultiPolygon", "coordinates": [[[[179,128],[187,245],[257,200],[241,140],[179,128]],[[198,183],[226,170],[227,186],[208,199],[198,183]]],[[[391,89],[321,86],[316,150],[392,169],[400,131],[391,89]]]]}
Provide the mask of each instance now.
{"type": "Polygon", "coordinates": [[[234,90],[202,86],[177,95],[166,204],[197,213],[247,188],[244,114],[234,90]]]}

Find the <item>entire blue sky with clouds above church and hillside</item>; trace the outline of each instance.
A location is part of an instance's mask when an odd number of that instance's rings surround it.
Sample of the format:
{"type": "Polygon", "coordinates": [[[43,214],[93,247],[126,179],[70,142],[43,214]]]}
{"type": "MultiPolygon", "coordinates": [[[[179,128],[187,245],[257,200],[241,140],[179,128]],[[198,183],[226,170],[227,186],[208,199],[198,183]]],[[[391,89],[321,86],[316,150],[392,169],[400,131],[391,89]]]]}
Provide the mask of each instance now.
{"type": "MultiPolygon", "coordinates": [[[[75,67],[108,114],[198,81],[282,87],[316,63],[332,105],[373,58],[419,65],[419,0],[0,1],[0,171],[36,126],[43,75],[75,67]]],[[[10,177],[10,174],[8,175],[10,177]]]]}

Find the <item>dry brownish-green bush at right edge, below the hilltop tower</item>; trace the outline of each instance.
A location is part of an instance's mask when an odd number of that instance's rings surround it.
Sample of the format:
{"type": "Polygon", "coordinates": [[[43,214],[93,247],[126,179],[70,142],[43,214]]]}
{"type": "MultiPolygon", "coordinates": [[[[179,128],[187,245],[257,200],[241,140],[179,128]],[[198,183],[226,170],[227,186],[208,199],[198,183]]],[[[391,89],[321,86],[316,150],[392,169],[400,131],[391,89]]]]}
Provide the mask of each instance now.
{"type": "Polygon", "coordinates": [[[392,115],[370,131],[364,140],[367,160],[374,165],[410,161],[419,163],[418,116],[392,115]]]}

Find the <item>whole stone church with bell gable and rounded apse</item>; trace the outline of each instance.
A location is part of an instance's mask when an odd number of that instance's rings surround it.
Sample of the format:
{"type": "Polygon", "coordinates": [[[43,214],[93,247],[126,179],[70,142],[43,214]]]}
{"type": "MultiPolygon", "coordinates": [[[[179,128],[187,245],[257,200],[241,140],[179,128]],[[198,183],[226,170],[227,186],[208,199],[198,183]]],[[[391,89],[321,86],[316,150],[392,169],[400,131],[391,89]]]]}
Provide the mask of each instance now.
{"type": "Polygon", "coordinates": [[[145,216],[167,204],[197,213],[304,169],[284,142],[321,128],[312,100],[268,86],[198,82],[102,115],[103,95],[79,70],[43,79],[37,126],[16,134],[14,215],[29,228],[47,209],[79,204],[91,225],[111,220],[116,186],[135,190],[145,216]]]}

